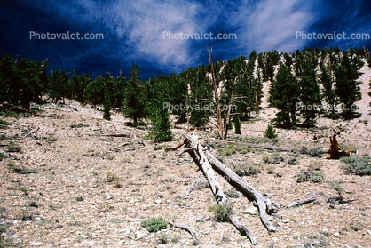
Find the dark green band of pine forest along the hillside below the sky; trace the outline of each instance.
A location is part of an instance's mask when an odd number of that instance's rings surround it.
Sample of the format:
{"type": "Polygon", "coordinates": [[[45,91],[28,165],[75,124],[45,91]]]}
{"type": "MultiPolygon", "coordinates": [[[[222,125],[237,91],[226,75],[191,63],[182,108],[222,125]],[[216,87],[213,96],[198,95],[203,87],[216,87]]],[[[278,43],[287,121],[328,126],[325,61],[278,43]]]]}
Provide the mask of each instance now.
{"type": "Polygon", "coordinates": [[[279,110],[273,120],[276,125],[311,126],[320,115],[354,116],[354,102],[361,97],[357,81],[364,64],[361,59],[371,64],[368,50],[342,52],[337,47],[306,48],[289,54],[253,51],[248,58],[225,62],[214,62],[209,55],[208,65],[143,81],[134,61],[128,77],[122,72],[118,76],[107,72],[92,78],[91,73],[50,71],[47,60],[16,60],[4,54],[0,60],[0,102],[24,108],[31,102],[58,103],[65,99],[103,105],[107,120],[113,108],[130,118],[134,126],[149,118],[154,140],[158,141],[171,140],[170,113],[178,124],[196,127],[218,116],[216,125],[223,127],[219,135],[225,139],[232,124],[241,132],[240,122],[260,111],[266,81],[272,83],[268,100],[279,110]]]}

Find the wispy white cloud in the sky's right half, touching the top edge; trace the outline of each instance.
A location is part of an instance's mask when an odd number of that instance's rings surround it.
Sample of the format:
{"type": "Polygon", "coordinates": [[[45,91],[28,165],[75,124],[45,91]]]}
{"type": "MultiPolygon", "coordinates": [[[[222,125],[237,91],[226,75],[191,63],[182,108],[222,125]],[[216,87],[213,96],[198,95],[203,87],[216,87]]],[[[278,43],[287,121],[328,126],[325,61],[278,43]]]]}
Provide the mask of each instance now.
{"type": "Polygon", "coordinates": [[[239,39],[249,50],[295,52],[308,42],[296,39],[296,31],[305,31],[313,23],[308,2],[267,0],[246,8],[238,19],[244,23],[239,39]]]}

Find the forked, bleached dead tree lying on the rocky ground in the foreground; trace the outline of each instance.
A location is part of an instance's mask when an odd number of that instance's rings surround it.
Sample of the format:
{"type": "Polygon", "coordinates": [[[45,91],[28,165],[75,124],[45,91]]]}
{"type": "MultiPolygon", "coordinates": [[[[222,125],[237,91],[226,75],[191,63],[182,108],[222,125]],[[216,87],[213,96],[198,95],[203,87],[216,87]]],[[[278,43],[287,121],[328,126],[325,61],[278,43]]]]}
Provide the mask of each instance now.
{"type": "MultiPolygon", "coordinates": [[[[198,136],[194,132],[186,133],[184,140],[181,140],[177,148],[180,148],[181,146],[185,146],[186,150],[181,152],[179,155],[187,152],[193,158],[194,163],[197,164],[205,178],[208,180],[209,187],[217,201],[217,204],[229,204],[229,199],[225,196],[215,172],[225,177],[228,183],[230,183],[234,188],[239,189],[245,196],[248,196],[249,199],[255,201],[264,226],[270,232],[276,230],[266,218],[266,213],[271,213],[273,209],[271,201],[261,193],[257,192],[257,190],[252,188],[246,181],[242,180],[237,174],[227,168],[225,164],[222,164],[214,156],[209,154],[209,152],[205,152],[198,140],[198,136]]],[[[227,220],[240,231],[242,236],[249,237],[251,244],[257,244],[257,240],[249,228],[242,225],[232,212],[226,214],[227,220]]]]}

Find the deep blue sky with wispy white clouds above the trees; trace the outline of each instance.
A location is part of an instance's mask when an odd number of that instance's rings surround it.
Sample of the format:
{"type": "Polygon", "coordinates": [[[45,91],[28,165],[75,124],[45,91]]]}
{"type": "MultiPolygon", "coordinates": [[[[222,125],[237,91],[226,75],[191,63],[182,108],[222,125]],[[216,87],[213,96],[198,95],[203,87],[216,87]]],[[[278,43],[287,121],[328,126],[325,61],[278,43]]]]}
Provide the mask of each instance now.
{"type": "MultiPolygon", "coordinates": [[[[14,1],[0,2],[0,52],[29,60],[48,59],[52,69],[93,76],[119,71],[127,75],[134,60],[142,79],[208,64],[210,39],[175,39],[180,33],[235,34],[212,41],[214,60],[227,60],[252,50],[295,52],[304,47],[339,46],[370,49],[371,3],[345,1],[14,1]],[[103,34],[98,40],[36,40],[38,34],[103,34]],[[170,32],[174,39],[164,38],[170,32]],[[304,34],[345,32],[346,39],[296,39],[304,34]],[[349,38],[349,39],[348,39],[349,38]]],[[[183,37],[186,37],[183,35],[183,37]]],[[[329,36],[328,36],[329,37],[329,36]]]]}

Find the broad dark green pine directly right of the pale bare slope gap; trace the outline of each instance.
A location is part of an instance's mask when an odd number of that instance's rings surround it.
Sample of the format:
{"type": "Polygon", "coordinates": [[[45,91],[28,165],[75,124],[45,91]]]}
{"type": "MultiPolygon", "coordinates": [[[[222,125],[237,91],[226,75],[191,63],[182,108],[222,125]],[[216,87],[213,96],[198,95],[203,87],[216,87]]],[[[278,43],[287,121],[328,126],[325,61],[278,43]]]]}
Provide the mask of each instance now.
{"type": "Polygon", "coordinates": [[[269,102],[280,112],[274,118],[274,123],[280,126],[296,124],[296,104],[299,97],[299,85],[290,68],[282,62],[276,79],[272,81],[269,90],[269,102]]]}

